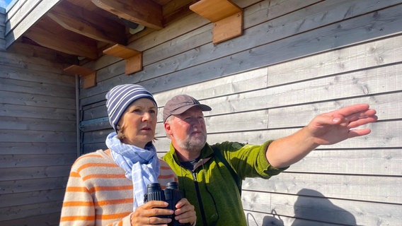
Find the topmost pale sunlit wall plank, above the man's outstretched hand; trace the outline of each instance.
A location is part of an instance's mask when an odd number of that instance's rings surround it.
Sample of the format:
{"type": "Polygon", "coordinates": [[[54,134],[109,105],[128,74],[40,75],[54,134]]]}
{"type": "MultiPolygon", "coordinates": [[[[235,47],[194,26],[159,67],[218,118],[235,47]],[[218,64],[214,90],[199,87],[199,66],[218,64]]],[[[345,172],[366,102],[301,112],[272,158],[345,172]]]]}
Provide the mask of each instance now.
{"type": "MultiPolygon", "coordinates": [[[[270,75],[268,84],[275,86],[336,73],[358,71],[372,65],[401,62],[401,46],[402,37],[395,36],[272,65],[268,67],[270,75]]],[[[372,71],[377,72],[376,69],[372,71]]]]}

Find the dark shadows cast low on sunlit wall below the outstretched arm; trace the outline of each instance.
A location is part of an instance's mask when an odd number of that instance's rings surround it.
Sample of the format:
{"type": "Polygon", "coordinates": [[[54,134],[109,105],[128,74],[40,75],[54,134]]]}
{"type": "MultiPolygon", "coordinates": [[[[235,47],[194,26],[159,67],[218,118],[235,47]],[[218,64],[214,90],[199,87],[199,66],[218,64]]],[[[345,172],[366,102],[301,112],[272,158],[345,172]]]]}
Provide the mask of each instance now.
{"type": "MultiPolygon", "coordinates": [[[[337,225],[356,225],[355,216],[352,213],[335,206],[323,194],[311,189],[302,189],[294,203],[294,218],[292,226],[324,225],[335,223],[337,225]]],[[[277,215],[265,216],[263,226],[285,226],[285,222],[277,215]]]]}

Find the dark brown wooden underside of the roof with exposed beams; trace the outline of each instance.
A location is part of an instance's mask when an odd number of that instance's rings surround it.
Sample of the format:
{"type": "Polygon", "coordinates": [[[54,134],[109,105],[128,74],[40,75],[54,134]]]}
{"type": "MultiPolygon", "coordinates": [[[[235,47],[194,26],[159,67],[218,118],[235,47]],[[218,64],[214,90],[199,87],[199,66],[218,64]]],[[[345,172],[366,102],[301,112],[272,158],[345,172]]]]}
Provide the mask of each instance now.
{"type": "MultiPolygon", "coordinates": [[[[86,59],[115,44],[163,29],[191,13],[195,0],[60,0],[23,32],[21,41],[86,59]]],[[[35,9],[34,9],[35,10],[35,9]]]]}

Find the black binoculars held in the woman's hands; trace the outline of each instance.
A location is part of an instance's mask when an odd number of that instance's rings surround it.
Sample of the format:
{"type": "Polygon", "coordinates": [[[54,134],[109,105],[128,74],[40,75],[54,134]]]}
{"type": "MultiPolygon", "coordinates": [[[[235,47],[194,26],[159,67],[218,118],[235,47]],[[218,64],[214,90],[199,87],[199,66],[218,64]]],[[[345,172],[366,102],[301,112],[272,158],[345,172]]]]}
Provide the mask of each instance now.
{"type": "MultiPolygon", "coordinates": [[[[161,184],[151,183],[147,186],[147,193],[144,195],[144,203],[149,201],[165,201],[168,203],[168,209],[176,210],[176,203],[183,198],[180,190],[178,189],[178,182],[169,182],[166,184],[166,189],[161,189],[161,184]]],[[[171,218],[172,221],[168,226],[188,226],[190,223],[182,224],[175,220],[173,215],[161,215],[159,218],[171,218]]]]}

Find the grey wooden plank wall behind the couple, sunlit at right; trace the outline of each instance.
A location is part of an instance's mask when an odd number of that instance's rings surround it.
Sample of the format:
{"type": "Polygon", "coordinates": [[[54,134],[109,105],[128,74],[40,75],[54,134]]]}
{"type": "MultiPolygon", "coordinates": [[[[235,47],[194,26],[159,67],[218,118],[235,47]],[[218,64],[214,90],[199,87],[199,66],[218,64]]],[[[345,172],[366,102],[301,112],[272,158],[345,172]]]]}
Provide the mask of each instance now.
{"type": "MultiPolygon", "coordinates": [[[[110,56],[86,64],[97,85],[80,90],[82,152],[105,148],[105,93],[122,83],[144,85],[160,110],[178,93],[210,105],[209,143],[263,143],[367,102],[379,116],[372,134],[321,146],[272,179],[247,179],[243,206],[249,225],[401,224],[402,1],[234,2],[244,9],[240,37],[212,44],[212,23],[191,14],[132,39],[144,52],[138,73],[126,76],[110,56]]],[[[163,155],[161,114],[157,128],[163,155]]]]}

